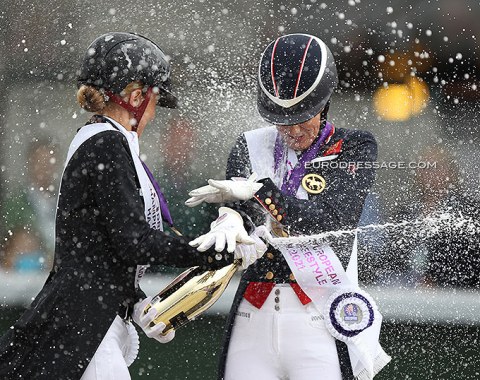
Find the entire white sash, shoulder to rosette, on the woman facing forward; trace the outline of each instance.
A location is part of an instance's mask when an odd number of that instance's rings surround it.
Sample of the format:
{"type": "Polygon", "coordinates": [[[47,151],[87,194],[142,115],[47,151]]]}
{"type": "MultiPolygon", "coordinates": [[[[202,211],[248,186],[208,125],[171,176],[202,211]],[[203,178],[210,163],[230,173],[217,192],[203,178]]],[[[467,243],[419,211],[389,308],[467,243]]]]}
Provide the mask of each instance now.
{"type": "MultiPolygon", "coordinates": [[[[281,188],[287,160],[294,166],[297,156],[288,149],[280,163],[281,168],[275,173],[276,137],[276,127],[245,133],[252,171],[259,178],[271,178],[281,188]]],[[[308,193],[299,186],[296,197],[308,199],[308,193]]],[[[274,238],[269,243],[282,252],[297,283],[324,314],[330,333],[347,343],[355,378],[373,379],[390,357],[378,341],[382,316],[374,300],[358,287],[357,236],[346,271],[337,255],[324,242],[302,244],[292,237],[274,238]]]]}

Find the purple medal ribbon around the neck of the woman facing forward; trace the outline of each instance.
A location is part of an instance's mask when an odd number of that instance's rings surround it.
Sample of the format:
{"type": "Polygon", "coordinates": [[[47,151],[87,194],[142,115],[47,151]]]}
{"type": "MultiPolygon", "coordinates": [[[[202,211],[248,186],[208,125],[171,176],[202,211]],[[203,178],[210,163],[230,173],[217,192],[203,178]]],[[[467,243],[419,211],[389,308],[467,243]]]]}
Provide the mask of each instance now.
{"type": "MultiPolygon", "coordinates": [[[[297,193],[298,187],[300,186],[300,182],[302,181],[302,178],[304,177],[306,172],[305,164],[313,160],[315,157],[317,157],[318,151],[320,150],[322,145],[325,143],[327,138],[330,136],[332,130],[333,130],[333,125],[327,121],[317,141],[314,144],[310,145],[308,149],[302,153],[295,167],[292,170],[288,170],[287,173],[285,173],[285,177],[283,178],[283,184],[281,188],[281,191],[283,194],[295,196],[295,194],[297,193]]],[[[280,134],[278,134],[277,139],[275,140],[275,150],[274,150],[275,171],[277,171],[277,169],[280,166],[284,149],[285,149],[285,144],[282,141],[280,134]]]]}

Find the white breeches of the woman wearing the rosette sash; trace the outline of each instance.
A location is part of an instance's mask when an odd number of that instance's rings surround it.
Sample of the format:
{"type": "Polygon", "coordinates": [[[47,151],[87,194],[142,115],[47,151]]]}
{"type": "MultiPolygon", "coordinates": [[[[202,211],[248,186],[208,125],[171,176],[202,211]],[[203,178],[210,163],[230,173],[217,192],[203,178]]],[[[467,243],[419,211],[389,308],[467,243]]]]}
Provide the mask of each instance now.
{"type": "Polygon", "coordinates": [[[261,309],[243,299],[233,325],[225,380],[341,380],[335,339],[312,303],[277,285],[261,309]]]}

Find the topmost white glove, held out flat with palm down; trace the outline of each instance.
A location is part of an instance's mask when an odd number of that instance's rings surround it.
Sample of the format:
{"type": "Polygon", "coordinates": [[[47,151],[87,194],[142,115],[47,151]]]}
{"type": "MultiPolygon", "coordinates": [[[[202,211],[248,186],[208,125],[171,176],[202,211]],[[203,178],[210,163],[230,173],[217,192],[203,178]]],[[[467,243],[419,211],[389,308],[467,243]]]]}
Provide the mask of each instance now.
{"type": "Polygon", "coordinates": [[[263,186],[255,182],[257,175],[253,173],[248,179],[235,177],[231,180],[218,181],[209,179],[208,185],[199,187],[188,193],[191,196],[185,204],[198,206],[202,202],[225,203],[230,201],[246,201],[263,186]]]}

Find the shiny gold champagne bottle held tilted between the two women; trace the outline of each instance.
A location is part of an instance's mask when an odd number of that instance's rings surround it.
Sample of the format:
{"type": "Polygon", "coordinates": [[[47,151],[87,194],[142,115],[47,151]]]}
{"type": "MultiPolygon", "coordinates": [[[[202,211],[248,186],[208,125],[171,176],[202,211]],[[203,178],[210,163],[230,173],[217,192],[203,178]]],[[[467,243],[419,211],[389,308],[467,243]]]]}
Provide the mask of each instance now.
{"type": "Polygon", "coordinates": [[[212,306],[223,294],[241,260],[221,269],[202,271],[192,267],[176,277],[158,293],[144,310],[153,307],[157,316],[154,325],[163,322],[162,335],[177,330],[212,306]]]}

